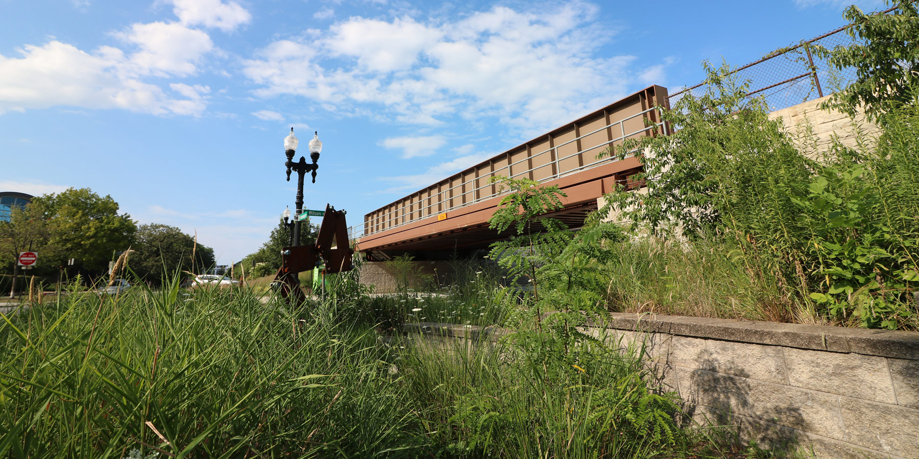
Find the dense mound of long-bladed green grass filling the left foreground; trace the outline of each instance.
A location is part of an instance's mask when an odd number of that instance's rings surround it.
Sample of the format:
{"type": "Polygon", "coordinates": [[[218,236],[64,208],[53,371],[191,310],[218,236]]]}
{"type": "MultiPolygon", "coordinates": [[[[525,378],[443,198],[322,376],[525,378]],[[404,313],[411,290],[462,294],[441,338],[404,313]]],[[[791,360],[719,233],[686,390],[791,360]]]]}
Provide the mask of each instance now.
{"type": "Polygon", "coordinates": [[[375,343],[251,292],[183,297],[176,282],[33,305],[0,326],[0,455],[355,457],[414,445],[411,399],[375,343]]]}

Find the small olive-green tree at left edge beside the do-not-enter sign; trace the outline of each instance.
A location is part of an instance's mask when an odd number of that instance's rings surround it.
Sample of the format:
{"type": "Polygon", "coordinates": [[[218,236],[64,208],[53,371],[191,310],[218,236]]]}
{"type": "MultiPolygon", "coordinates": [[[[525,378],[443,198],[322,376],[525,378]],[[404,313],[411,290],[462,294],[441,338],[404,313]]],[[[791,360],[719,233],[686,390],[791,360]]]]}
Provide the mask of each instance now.
{"type": "MultiPolygon", "coordinates": [[[[19,252],[31,249],[40,252],[42,258],[53,257],[51,252],[45,252],[48,243],[48,225],[41,218],[40,212],[31,204],[26,208],[14,208],[10,221],[0,220],[0,263],[12,265],[13,278],[9,297],[16,292],[16,276],[18,274],[17,258],[19,252]]],[[[47,263],[43,263],[47,265],[47,263]]],[[[47,271],[47,270],[44,270],[47,271]]]]}

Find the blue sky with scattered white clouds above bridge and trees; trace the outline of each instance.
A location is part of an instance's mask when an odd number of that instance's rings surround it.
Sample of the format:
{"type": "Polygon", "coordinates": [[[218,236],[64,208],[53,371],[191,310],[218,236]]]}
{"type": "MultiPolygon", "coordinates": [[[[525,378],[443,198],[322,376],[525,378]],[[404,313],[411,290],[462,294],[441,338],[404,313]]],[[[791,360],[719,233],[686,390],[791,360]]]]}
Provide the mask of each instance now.
{"type": "Polygon", "coordinates": [[[838,28],[850,3],[0,0],[0,191],[88,187],[232,263],[294,207],[291,127],[298,158],[323,140],[304,207],[356,225],[651,84],[697,84],[700,62],[838,28]]]}

